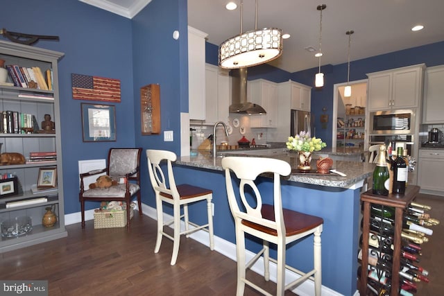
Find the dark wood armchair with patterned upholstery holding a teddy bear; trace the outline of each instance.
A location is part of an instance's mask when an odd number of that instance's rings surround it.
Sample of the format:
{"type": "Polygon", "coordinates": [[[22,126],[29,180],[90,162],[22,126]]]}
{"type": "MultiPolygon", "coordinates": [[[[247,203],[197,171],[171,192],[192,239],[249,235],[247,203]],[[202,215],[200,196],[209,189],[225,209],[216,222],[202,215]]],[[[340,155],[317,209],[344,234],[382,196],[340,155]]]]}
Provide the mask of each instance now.
{"type": "Polygon", "coordinates": [[[82,228],[85,228],[85,200],[102,202],[102,201],[122,201],[126,202],[127,207],[127,223],[130,229],[130,202],[134,195],[137,195],[137,205],[139,207],[139,215],[142,216],[142,201],[140,195],[140,155],[142,148],[111,148],[108,152],[108,166],[101,170],[89,171],[80,174],[80,208],[82,212],[82,228]],[[113,180],[119,182],[115,186],[105,189],[94,188],[85,189],[83,179],[97,175],[109,175],[113,180]]]}

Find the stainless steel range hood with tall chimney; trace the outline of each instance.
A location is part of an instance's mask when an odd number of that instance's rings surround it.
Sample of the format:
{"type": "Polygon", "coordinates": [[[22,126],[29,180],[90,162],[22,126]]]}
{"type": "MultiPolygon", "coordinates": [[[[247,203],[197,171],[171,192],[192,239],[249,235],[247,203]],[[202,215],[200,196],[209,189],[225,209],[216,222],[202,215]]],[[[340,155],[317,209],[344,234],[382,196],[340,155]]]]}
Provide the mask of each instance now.
{"type": "Polygon", "coordinates": [[[266,114],[264,108],[247,102],[247,68],[232,69],[232,104],[228,112],[237,114],[266,114]]]}

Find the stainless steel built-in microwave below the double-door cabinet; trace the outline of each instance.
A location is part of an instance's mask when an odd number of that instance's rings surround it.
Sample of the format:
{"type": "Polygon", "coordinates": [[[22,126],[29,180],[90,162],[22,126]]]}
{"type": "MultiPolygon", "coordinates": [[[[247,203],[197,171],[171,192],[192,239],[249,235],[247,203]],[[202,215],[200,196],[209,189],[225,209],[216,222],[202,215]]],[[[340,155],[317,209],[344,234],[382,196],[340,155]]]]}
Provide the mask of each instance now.
{"type": "Polygon", "coordinates": [[[370,112],[370,134],[413,134],[413,110],[388,110],[370,112]]]}

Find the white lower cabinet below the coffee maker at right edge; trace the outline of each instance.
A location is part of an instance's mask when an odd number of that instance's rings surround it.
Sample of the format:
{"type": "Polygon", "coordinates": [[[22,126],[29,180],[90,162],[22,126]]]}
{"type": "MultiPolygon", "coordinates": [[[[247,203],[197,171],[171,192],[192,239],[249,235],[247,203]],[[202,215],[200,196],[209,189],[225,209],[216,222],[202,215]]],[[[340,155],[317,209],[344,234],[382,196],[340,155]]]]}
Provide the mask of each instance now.
{"type": "Polygon", "coordinates": [[[420,149],[418,185],[421,192],[444,195],[444,150],[420,149]]]}

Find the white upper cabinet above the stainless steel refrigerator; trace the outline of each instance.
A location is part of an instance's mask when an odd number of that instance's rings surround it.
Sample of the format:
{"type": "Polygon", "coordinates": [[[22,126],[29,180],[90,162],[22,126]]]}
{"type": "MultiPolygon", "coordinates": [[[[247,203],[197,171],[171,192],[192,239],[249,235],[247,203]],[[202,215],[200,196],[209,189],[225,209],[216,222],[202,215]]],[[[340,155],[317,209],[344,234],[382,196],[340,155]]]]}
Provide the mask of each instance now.
{"type": "Polygon", "coordinates": [[[311,109],[311,87],[298,82],[287,81],[278,84],[278,96],[289,98],[291,109],[310,111],[311,109]]]}

